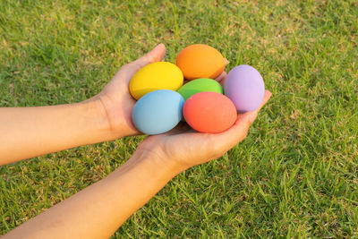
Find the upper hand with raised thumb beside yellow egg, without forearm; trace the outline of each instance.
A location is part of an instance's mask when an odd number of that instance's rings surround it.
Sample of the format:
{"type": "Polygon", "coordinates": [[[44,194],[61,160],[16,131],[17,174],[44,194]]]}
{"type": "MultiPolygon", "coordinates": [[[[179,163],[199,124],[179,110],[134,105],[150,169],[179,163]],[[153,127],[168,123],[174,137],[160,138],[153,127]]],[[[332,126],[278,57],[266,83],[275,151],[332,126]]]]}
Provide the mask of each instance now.
{"type": "Polygon", "coordinates": [[[132,124],[132,108],[135,99],[129,92],[129,82],[132,76],[147,64],[162,61],[166,54],[166,47],[159,44],[148,54],[141,56],[138,60],[125,64],[119,69],[112,81],[94,98],[90,100],[99,101],[106,114],[110,138],[115,140],[123,136],[138,134],[139,132],[132,124]]]}

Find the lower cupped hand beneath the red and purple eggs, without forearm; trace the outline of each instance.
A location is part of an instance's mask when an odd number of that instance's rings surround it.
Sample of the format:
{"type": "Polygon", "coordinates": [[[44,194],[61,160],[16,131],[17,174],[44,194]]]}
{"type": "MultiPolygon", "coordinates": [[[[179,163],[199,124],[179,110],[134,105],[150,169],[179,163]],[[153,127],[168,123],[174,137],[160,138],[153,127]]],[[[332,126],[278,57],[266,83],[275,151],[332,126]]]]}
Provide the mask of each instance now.
{"type": "Polygon", "coordinates": [[[226,132],[194,132],[187,124],[181,123],[170,132],[149,136],[141,142],[137,151],[153,154],[170,165],[174,163],[182,171],[218,158],[246,138],[250,125],[270,97],[271,93],[266,90],[260,107],[256,111],[238,115],[234,125],[226,132]]]}

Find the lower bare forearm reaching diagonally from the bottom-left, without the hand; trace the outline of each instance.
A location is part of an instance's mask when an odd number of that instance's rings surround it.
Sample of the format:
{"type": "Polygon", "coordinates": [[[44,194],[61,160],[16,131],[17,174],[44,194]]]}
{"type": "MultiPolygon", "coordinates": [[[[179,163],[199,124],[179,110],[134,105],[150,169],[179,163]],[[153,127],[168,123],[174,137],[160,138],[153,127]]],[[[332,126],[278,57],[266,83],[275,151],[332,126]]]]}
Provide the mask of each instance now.
{"type": "Polygon", "coordinates": [[[173,163],[135,153],[105,179],[47,209],[4,238],[107,238],[182,171],[173,163]]]}

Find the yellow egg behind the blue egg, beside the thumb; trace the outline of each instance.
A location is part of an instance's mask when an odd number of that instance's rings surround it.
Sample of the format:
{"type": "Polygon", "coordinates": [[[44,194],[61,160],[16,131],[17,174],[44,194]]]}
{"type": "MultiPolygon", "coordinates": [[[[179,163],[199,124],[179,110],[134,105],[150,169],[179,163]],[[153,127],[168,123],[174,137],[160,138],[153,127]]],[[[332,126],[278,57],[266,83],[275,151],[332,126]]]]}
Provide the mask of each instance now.
{"type": "Polygon", "coordinates": [[[175,64],[157,62],[135,73],[129,90],[133,98],[139,99],[154,90],[178,90],[182,85],[183,73],[175,64]]]}

